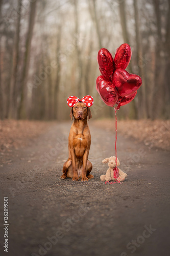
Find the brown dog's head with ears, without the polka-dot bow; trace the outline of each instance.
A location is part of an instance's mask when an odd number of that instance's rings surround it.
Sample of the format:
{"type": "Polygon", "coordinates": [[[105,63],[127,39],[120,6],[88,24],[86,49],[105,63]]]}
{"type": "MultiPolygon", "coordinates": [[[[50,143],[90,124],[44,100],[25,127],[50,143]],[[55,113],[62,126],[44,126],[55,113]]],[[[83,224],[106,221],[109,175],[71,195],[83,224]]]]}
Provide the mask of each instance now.
{"type": "Polygon", "coordinates": [[[69,114],[71,120],[72,116],[74,116],[75,119],[84,120],[84,119],[90,119],[92,117],[91,111],[83,102],[76,103],[70,110],[69,114]]]}

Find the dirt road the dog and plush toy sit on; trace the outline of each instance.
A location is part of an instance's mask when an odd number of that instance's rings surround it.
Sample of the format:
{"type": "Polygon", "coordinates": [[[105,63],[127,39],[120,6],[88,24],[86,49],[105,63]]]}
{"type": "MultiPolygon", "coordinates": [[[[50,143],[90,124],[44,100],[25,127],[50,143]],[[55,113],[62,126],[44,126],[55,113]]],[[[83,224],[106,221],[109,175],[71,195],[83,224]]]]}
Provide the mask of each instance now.
{"type": "Polygon", "coordinates": [[[115,154],[114,134],[90,120],[94,179],[61,180],[70,125],[53,124],[24,150],[13,150],[0,167],[0,254],[169,255],[169,152],[118,136],[120,168],[128,177],[123,184],[105,184],[100,175],[108,166],[102,160],[115,154]]]}

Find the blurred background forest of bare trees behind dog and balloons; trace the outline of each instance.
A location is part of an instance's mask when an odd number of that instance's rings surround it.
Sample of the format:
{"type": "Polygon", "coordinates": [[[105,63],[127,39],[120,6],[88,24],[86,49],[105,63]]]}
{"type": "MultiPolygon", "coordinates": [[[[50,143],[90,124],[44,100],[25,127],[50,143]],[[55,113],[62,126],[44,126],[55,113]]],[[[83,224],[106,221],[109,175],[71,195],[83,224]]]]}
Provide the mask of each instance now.
{"type": "Polygon", "coordinates": [[[112,117],[96,56],[125,42],[143,83],[119,117],[169,118],[170,0],[0,0],[0,17],[1,119],[67,119],[67,97],[87,94],[94,118],[112,117]]]}

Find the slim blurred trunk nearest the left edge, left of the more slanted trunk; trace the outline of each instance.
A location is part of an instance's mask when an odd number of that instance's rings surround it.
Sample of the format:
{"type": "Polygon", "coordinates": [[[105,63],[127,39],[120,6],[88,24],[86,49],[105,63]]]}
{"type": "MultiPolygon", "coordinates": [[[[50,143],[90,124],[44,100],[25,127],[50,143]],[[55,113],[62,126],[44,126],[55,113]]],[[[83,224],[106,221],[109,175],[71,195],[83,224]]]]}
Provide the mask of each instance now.
{"type": "Polygon", "coordinates": [[[9,117],[16,118],[16,80],[17,80],[17,68],[19,62],[19,34],[20,34],[20,18],[21,18],[21,6],[22,0],[18,0],[18,16],[16,22],[16,34],[14,40],[14,48],[13,48],[13,59],[12,59],[12,74],[10,81],[10,106],[9,106],[9,117]]]}

